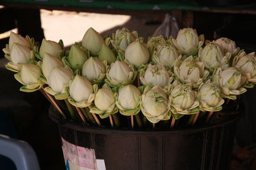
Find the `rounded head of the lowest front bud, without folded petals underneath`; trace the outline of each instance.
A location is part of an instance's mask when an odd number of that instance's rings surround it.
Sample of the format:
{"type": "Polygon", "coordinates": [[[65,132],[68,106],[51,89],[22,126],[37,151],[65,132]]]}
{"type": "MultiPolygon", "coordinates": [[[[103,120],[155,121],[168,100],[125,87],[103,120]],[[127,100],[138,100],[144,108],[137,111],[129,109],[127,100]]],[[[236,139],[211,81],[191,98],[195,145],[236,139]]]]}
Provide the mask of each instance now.
{"type": "Polygon", "coordinates": [[[143,115],[158,117],[168,111],[168,99],[164,91],[156,86],[142,95],[142,106],[143,115]]]}

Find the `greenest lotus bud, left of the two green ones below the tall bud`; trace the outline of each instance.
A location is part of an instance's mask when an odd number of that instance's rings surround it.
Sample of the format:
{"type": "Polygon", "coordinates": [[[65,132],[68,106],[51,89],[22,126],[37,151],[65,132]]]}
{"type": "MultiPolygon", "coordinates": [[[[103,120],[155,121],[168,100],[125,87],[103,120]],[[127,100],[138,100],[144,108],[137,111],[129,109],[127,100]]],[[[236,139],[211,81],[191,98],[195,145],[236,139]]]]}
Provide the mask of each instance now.
{"type": "Polygon", "coordinates": [[[77,45],[72,45],[70,52],[68,53],[68,61],[72,68],[78,69],[82,67],[86,60],[88,60],[88,57],[84,50],[77,45]]]}

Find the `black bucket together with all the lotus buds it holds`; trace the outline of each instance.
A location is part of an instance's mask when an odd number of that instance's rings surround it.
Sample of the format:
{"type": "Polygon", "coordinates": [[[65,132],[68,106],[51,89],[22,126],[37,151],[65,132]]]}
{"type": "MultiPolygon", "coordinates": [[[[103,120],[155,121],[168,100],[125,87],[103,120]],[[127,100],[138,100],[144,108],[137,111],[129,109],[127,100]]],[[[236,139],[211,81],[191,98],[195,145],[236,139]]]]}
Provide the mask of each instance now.
{"type": "Polygon", "coordinates": [[[40,90],[60,113],[67,169],[228,169],[234,120],[219,116],[256,83],[254,52],[191,28],[147,43],[90,28],[70,50],[11,32],[3,52],[20,91],[40,90]]]}

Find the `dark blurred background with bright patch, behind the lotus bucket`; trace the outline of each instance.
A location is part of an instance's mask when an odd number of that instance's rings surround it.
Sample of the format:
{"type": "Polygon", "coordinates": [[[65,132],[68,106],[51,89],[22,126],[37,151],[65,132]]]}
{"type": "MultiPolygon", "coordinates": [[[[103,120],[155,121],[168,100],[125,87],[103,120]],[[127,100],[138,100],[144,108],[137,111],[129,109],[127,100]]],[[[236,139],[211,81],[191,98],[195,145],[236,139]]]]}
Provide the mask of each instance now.
{"type": "MultiPolygon", "coordinates": [[[[256,51],[256,3],[253,1],[3,1],[0,0],[0,47],[10,31],[41,42],[63,39],[68,49],[93,27],[102,36],[127,27],[148,36],[175,36],[179,29],[193,27],[205,39],[227,37],[246,52],[256,51]],[[167,14],[167,15],[166,15],[167,14]]],[[[48,117],[49,102],[40,92],[20,92],[13,73],[6,70],[0,52],[0,134],[27,141],[42,170],[65,169],[58,126],[48,117]]],[[[237,123],[232,169],[256,169],[256,100],[254,89],[241,98],[246,115],[237,123]]],[[[15,169],[0,157],[0,169],[15,169]],[[6,165],[6,167],[5,167],[6,165]]]]}

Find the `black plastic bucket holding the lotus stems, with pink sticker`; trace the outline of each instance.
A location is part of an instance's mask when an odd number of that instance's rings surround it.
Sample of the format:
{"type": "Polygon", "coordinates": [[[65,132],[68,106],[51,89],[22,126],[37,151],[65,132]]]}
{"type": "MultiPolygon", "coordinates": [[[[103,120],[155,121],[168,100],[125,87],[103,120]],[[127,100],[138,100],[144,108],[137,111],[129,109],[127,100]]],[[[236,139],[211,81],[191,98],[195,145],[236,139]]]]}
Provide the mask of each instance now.
{"type": "Polygon", "coordinates": [[[122,131],[66,122],[51,109],[50,117],[60,129],[70,170],[70,164],[100,170],[229,169],[238,119],[195,129],[122,131]]]}

